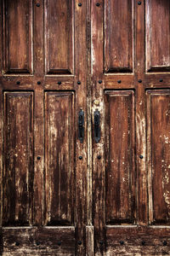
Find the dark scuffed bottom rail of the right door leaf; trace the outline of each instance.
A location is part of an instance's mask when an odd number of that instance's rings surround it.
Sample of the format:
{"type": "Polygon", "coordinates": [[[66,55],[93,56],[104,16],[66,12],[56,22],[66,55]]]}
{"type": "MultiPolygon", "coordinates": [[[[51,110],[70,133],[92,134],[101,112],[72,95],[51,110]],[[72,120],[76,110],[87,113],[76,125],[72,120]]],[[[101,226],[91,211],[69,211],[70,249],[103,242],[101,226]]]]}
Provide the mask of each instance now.
{"type": "Polygon", "coordinates": [[[169,255],[169,228],[150,228],[147,226],[116,227],[107,226],[106,256],[169,255]]]}

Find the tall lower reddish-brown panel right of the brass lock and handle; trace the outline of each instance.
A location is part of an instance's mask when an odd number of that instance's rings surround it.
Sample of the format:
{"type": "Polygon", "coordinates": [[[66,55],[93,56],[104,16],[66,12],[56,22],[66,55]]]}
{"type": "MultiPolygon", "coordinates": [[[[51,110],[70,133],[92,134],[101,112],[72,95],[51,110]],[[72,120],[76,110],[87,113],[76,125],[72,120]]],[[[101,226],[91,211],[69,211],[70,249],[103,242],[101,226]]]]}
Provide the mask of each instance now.
{"type": "Polygon", "coordinates": [[[106,224],[133,223],[134,93],[105,91],[106,224]]]}

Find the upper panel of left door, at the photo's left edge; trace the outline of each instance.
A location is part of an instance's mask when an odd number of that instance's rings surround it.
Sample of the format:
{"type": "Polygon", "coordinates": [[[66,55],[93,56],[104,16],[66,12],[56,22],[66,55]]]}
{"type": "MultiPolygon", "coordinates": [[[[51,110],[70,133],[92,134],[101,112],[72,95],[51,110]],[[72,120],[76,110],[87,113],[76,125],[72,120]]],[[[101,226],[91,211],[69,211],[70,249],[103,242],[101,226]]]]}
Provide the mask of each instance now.
{"type": "Polygon", "coordinates": [[[3,0],[3,73],[32,68],[32,2],[3,0]]]}

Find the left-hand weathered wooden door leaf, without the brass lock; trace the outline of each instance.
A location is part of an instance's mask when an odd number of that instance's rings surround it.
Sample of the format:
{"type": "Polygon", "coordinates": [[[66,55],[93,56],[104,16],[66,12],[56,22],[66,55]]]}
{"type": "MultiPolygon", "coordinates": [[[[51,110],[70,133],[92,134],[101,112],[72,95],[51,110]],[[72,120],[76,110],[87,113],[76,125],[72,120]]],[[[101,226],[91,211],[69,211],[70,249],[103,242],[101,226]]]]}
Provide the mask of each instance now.
{"type": "Polygon", "coordinates": [[[86,16],[77,0],[1,1],[3,255],[85,253],[86,16]]]}

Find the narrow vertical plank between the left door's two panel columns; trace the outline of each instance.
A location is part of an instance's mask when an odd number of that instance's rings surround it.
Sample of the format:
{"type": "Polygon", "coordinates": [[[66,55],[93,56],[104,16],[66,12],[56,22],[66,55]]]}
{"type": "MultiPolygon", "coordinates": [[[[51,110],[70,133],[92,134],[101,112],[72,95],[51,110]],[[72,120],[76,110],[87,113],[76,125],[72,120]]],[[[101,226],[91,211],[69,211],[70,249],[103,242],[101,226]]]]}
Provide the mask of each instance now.
{"type": "Polygon", "coordinates": [[[34,1],[34,205],[33,224],[43,223],[43,172],[44,172],[44,129],[43,129],[43,1],[34,1]],[[39,3],[39,5],[37,4],[39,3]],[[40,82],[40,83],[37,83],[40,82]]]}

